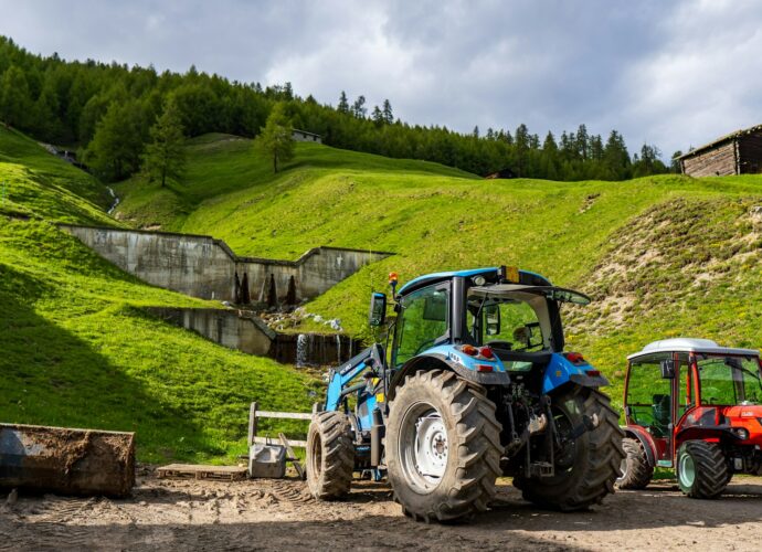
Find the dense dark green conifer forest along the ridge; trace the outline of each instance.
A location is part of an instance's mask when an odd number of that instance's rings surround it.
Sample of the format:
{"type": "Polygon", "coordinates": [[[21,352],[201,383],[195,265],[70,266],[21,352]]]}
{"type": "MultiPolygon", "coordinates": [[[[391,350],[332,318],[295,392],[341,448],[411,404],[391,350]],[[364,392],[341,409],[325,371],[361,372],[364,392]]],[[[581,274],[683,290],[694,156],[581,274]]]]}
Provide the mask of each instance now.
{"type": "MultiPolygon", "coordinates": [[[[542,139],[526,125],[514,131],[481,132],[477,127],[463,134],[403,123],[389,99],[371,108],[364,96],[350,100],[341,92],[332,106],[296,95],[289,83],[263,87],[194,66],[179,74],[115,62],[70,62],[57,54],[32,54],[0,36],[0,119],[39,140],[76,149],[81,160],[108,181],[135,174],[147,158],[174,155],[160,150],[167,137],[177,138],[178,132],[255,138],[276,105],[278,120],[321,135],[329,146],[435,161],[481,176],[508,170],[516,177],[550,180],[625,180],[669,170],[653,145],[631,156],[616,130],[605,139],[585,125],[542,139]]],[[[179,176],[159,174],[157,167],[149,171],[156,179],[179,176]]]]}

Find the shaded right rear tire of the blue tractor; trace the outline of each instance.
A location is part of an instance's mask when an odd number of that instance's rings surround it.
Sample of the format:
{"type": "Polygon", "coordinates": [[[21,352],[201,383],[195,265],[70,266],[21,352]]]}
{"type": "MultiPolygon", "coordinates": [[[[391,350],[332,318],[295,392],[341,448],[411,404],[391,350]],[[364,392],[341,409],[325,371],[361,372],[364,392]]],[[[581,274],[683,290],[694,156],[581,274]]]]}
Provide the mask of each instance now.
{"type": "Polygon", "coordinates": [[[553,397],[551,407],[562,438],[584,426],[584,416],[592,428],[576,439],[565,439],[564,446],[555,450],[552,477],[520,475],[514,478],[514,485],[521,489],[525,500],[541,508],[574,511],[601,503],[606,495],[614,492],[624,458],[624,432],[618,415],[606,395],[579,386],[553,397]]]}

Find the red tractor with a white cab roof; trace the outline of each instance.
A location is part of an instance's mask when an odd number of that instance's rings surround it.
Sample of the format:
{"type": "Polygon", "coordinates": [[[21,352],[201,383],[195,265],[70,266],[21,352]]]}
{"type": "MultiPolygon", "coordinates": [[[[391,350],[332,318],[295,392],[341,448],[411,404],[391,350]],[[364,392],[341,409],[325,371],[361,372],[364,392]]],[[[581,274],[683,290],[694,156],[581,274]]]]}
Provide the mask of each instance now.
{"type": "Polygon", "coordinates": [[[627,357],[621,489],[674,468],[684,493],[716,498],[733,474],[762,474],[759,351],[667,339],[627,357]]]}

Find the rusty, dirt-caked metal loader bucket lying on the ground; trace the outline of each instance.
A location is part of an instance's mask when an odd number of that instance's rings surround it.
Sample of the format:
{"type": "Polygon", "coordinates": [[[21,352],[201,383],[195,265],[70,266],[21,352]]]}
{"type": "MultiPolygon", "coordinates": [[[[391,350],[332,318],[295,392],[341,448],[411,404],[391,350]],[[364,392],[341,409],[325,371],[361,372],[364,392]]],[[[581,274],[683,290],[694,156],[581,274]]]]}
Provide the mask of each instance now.
{"type": "Polygon", "coordinates": [[[134,433],[0,424],[0,487],[125,497],[134,485],[134,433]]]}

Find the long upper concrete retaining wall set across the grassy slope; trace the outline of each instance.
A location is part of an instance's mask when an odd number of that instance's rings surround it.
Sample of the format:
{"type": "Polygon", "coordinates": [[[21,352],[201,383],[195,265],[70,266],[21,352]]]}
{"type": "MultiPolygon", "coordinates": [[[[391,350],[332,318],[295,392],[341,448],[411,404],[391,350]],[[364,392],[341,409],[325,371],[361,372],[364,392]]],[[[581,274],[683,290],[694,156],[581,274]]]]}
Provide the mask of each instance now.
{"type": "Polygon", "coordinates": [[[155,286],[202,299],[234,301],[235,274],[247,276],[252,300],[264,301],[271,278],[284,302],[293,277],[296,302],[325,293],[390,253],[315,247],[297,261],[239,257],[211,236],[60,225],[124,270],[155,286]]]}

